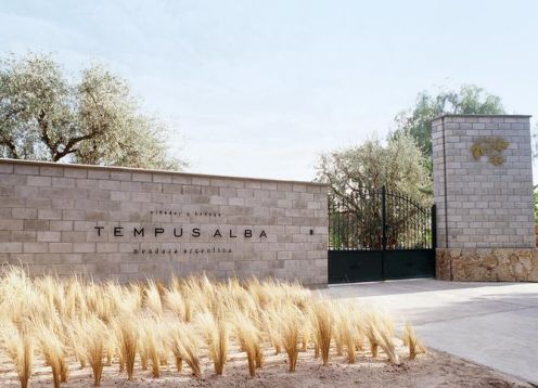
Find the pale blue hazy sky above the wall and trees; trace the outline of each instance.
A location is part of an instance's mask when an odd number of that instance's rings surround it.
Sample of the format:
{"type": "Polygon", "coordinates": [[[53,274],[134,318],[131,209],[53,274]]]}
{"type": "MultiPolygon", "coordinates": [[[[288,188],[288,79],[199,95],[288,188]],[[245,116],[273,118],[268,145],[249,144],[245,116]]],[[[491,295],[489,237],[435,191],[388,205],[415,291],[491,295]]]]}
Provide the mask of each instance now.
{"type": "MultiPolygon", "coordinates": [[[[107,64],[190,172],[311,180],[427,90],[474,83],[538,117],[538,2],[0,0],[0,55],[107,64]]],[[[535,171],[537,168],[535,168],[535,171]]],[[[536,179],[535,172],[535,182],[536,179]]]]}

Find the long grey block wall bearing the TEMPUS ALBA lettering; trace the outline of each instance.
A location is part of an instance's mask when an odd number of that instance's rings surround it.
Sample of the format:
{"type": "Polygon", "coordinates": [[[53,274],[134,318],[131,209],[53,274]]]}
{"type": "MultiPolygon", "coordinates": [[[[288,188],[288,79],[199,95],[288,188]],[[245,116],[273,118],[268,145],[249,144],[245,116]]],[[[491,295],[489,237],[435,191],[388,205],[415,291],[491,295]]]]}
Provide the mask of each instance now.
{"type": "Polygon", "coordinates": [[[328,187],[0,159],[0,262],[120,282],[328,281],[328,187]]]}

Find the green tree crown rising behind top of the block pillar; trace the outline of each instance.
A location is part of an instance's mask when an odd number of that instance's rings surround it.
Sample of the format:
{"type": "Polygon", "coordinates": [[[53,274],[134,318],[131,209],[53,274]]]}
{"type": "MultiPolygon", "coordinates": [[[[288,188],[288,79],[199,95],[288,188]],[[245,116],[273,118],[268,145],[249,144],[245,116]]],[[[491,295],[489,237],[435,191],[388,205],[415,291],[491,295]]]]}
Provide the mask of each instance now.
{"type": "MultiPolygon", "coordinates": [[[[398,132],[409,132],[424,155],[432,156],[431,121],[444,114],[503,114],[501,99],[474,85],[464,85],[459,91],[443,91],[437,95],[421,92],[417,104],[396,116],[398,132]]],[[[431,169],[431,167],[430,167],[431,169]]]]}

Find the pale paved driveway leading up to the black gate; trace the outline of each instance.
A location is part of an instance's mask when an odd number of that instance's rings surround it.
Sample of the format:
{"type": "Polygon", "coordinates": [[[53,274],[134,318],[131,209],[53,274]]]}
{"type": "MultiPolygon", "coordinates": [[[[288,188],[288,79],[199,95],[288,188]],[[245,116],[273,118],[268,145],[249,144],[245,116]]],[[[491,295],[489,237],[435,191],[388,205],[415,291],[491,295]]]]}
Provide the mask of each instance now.
{"type": "Polygon", "coordinates": [[[335,285],[332,298],[357,298],[409,321],[432,348],[538,384],[538,283],[435,280],[335,285]]]}

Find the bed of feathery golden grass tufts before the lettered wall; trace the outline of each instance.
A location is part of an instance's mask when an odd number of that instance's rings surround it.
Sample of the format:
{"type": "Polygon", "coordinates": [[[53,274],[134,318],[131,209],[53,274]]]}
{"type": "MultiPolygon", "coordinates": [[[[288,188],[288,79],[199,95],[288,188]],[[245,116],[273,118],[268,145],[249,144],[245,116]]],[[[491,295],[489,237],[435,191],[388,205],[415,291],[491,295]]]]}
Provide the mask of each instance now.
{"type": "MultiPolygon", "coordinates": [[[[409,358],[425,352],[410,325],[401,339],[409,358]]],[[[328,301],[298,283],[191,275],[118,284],[30,279],[14,267],[0,273],[0,357],[23,388],[36,365],[47,366],[54,387],[71,371],[82,371],[100,386],[111,374],[129,381],[226,378],[231,360],[256,376],[266,359],[281,352],[290,372],[317,358],[323,365],[366,357],[400,363],[387,315],[357,302],[328,301]]],[[[0,385],[2,378],[0,373],[0,385]]]]}

